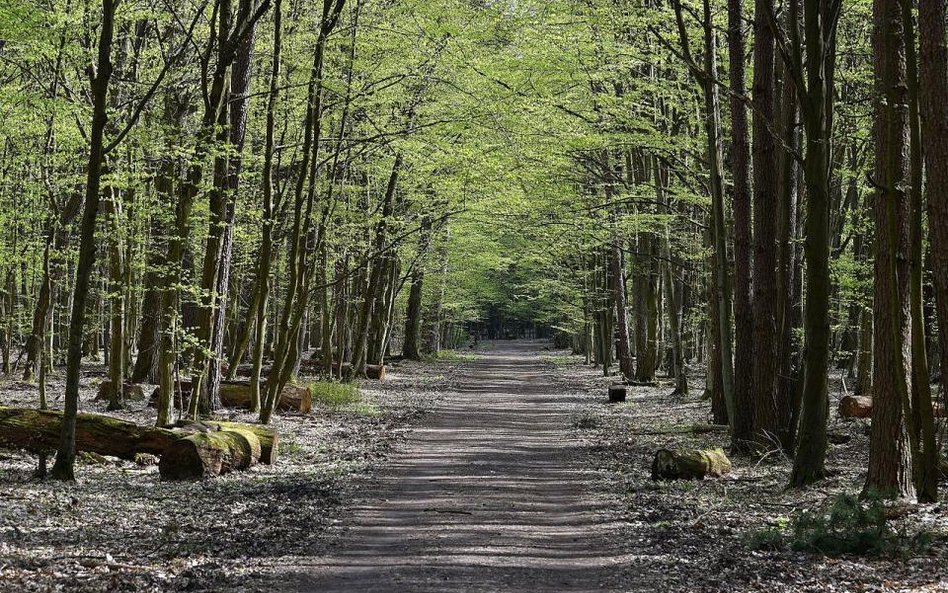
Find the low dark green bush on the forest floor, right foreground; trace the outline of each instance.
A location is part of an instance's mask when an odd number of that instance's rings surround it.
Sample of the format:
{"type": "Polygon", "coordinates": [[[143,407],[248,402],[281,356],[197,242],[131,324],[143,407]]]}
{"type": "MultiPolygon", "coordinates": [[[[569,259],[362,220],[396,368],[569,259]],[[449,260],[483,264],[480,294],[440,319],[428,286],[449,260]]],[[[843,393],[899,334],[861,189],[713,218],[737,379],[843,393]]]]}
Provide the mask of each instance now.
{"type": "Polygon", "coordinates": [[[896,532],[888,524],[886,507],[878,496],[860,501],[844,494],[833,499],[828,512],[794,513],[783,524],[751,532],[745,541],[754,549],[789,547],[829,556],[904,556],[925,551],[931,536],[896,532]]]}

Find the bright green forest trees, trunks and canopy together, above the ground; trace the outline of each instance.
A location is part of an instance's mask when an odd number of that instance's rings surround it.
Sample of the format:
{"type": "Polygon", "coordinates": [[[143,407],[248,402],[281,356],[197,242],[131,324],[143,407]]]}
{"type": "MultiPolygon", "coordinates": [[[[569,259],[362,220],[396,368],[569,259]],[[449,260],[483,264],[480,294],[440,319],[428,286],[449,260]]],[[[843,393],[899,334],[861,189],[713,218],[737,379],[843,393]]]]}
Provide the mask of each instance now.
{"type": "Polygon", "coordinates": [[[704,379],[794,486],[842,370],[867,489],[935,496],[943,2],[14,0],[0,39],[2,370],[46,407],[65,367],[59,477],[83,359],[159,426],[249,364],[267,423],[304,364],[542,335],[704,379]]]}

